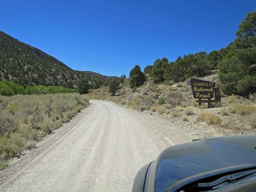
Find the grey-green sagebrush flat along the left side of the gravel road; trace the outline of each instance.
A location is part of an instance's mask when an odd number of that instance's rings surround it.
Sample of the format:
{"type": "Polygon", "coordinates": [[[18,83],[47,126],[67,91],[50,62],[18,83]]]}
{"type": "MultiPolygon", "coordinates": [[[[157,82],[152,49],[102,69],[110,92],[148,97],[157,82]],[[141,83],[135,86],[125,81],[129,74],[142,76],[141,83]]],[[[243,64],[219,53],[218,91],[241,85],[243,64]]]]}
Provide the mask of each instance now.
{"type": "Polygon", "coordinates": [[[0,169],[88,105],[76,93],[0,96],[0,169]]]}

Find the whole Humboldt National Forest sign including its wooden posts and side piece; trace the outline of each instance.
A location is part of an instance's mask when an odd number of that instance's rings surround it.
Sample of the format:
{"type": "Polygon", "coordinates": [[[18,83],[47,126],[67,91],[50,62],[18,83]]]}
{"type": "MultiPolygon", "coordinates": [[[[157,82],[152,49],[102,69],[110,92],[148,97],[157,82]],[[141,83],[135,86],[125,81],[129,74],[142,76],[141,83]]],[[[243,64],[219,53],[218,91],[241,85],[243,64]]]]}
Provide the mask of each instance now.
{"type": "Polygon", "coordinates": [[[202,103],[208,103],[208,107],[211,107],[211,103],[221,102],[221,91],[215,89],[214,82],[208,82],[200,79],[190,79],[191,91],[193,97],[197,99],[199,106],[202,103]],[[211,100],[215,96],[215,100],[211,100]]]}

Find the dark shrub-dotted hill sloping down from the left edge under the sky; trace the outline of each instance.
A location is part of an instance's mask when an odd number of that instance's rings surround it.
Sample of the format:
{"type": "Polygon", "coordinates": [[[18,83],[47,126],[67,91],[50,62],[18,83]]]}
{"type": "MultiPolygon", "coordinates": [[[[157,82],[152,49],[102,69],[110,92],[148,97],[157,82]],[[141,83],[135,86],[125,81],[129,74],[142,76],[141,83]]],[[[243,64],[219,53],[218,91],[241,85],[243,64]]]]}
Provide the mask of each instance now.
{"type": "Polygon", "coordinates": [[[76,88],[80,79],[90,83],[112,77],[91,71],[75,71],[58,59],[0,31],[0,79],[20,85],[60,85],[76,88]]]}

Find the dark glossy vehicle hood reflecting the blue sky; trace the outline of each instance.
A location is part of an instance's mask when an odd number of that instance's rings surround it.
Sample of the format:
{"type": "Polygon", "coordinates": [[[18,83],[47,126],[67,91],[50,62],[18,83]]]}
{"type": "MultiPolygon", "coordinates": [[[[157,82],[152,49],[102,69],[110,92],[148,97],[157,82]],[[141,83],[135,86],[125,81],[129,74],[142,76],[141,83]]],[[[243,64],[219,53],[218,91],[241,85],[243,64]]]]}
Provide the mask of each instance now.
{"type": "Polygon", "coordinates": [[[209,138],[175,145],[164,150],[155,161],[156,192],[175,191],[186,182],[193,182],[193,176],[198,179],[256,166],[256,135],[209,138]]]}

